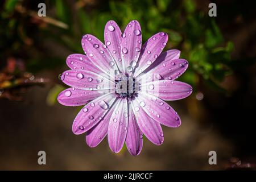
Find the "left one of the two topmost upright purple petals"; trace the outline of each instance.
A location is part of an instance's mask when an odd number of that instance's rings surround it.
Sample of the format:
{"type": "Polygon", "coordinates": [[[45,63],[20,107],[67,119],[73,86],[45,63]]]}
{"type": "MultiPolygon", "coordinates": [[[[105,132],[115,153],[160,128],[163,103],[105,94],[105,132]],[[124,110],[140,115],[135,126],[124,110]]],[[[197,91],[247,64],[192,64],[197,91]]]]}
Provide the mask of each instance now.
{"type": "Polygon", "coordinates": [[[111,52],[115,63],[119,71],[123,72],[123,66],[121,61],[121,30],[117,23],[114,20],[108,21],[105,26],[104,39],[105,44],[108,46],[109,51],[111,52]]]}

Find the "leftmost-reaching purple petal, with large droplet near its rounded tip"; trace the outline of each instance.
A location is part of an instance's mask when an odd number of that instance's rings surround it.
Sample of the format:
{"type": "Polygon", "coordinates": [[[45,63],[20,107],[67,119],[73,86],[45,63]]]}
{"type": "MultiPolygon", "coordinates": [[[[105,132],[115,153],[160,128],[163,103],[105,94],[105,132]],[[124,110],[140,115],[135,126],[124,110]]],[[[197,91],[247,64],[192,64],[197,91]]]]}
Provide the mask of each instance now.
{"type": "Polygon", "coordinates": [[[64,106],[81,106],[101,95],[102,93],[98,90],[88,92],[86,90],[68,88],[60,92],[57,101],[64,106]]]}

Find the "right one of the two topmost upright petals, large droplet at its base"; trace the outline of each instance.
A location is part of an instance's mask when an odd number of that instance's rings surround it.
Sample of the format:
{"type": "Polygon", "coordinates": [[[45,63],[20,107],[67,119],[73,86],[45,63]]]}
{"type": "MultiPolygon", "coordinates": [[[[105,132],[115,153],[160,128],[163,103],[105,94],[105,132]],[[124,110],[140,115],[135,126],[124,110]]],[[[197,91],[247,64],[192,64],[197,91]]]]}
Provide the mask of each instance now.
{"type": "Polygon", "coordinates": [[[122,34],[121,54],[123,70],[126,73],[133,72],[141,52],[142,33],[141,25],[137,20],[127,24],[122,34]]]}

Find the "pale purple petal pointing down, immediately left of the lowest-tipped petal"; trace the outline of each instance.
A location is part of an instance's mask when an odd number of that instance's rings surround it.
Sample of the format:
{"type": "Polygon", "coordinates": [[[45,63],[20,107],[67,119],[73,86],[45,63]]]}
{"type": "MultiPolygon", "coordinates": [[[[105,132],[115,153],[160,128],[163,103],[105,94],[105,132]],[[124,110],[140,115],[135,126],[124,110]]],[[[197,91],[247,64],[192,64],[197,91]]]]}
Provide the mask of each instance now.
{"type": "Polygon", "coordinates": [[[126,98],[119,98],[115,105],[114,114],[109,121],[108,141],[110,149],[118,153],[125,143],[128,127],[128,113],[126,98]]]}

